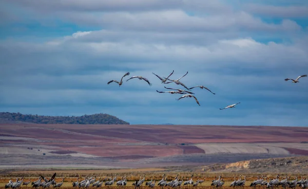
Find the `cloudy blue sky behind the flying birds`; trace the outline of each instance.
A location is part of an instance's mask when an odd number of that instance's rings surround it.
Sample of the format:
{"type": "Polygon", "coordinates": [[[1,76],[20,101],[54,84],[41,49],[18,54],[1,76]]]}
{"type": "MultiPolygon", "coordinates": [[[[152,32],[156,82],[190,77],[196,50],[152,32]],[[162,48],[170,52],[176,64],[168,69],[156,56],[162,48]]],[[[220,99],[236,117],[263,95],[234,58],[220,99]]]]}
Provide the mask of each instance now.
{"type": "Polygon", "coordinates": [[[308,1],[0,0],[0,112],[308,125],[308,1]],[[199,100],[157,93],[152,72],[199,100]],[[121,87],[107,82],[130,72],[121,87]],[[131,76],[146,77],[152,86],[131,76]],[[236,108],[219,110],[241,102],[236,108]]]}

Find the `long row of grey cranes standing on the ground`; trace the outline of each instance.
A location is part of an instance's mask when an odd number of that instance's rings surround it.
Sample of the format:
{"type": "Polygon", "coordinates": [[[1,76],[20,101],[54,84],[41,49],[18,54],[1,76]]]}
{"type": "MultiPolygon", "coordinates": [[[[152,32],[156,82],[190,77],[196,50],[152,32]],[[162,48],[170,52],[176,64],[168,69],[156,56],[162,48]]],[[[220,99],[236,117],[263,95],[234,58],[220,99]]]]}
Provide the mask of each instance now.
{"type": "MultiPolygon", "coordinates": [[[[38,177],[38,180],[34,181],[31,183],[32,188],[39,188],[42,187],[42,189],[44,188],[49,188],[51,185],[54,188],[59,188],[62,186],[64,178],[62,178],[62,182],[56,183],[55,182],[55,175],[56,173],[53,174],[52,177],[50,177],[50,179],[46,179],[43,176],[38,177]],[[43,180],[43,181],[42,181],[43,180]]],[[[295,177],[294,180],[290,180],[290,176],[288,177],[287,175],[282,179],[279,180],[279,175],[276,176],[276,178],[273,178],[272,180],[269,179],[267,181],[267,177],[265,177],[262,175],[262,177],[258,177],[257,180],[254,180],[250,186],[253,187],[254,189],[256,188],[256,186],[263,186],[267,187],[267,188],[271,188],[273,189],[274,187],[278,188],[280,185],[286,189],[286,188],[295,188],[297,185],[302,187],[303,189],[308,188],[308,179],[307,178],[301,178],[301,180],[298,180],[297,177],[295,177]]],[[[72,186],[74,188],[89,188],[90,186],[92,186],[92,188],[94,187],[101,187],[103,185],[103,182],[105,186],[112,186],[113,184],[119,186],[119,187],[124,187],[127,185],[127,179],[126,176],[122,176],[121,180],[117,181],[117,174],[115,174],[115,176],[111,176],[111,177],[106,177],[104,179],[102,179],[101,177],[99,178],[99,180],[96,180],[97,176],[96,175],[92,175],[92,177],[86,176],[84,178],[84,180],[79,181],[80,178],[77,178],[76,182],[72,183],[72,186]]],[[[167,179],[167,177],[165,177],[165,174],[163,174],[163,178],[157,183],[157,186],[159,187],[167,187],[167,188],[182,188],[181,186],[192,186],[192,187],[197,187],[198,185],[202,185],[202,183],[205,181],[205,178],[202,180],[198,180],[196,182],[194,182],[192,180],[193,175],[189,177],[187,177],[187,180],[184,181],[183,177],[181,179],[179,179],[179,175],[177,175],[174,180],[169,180],[167,179]]],[[[23,182],[24,177],[21,178],[21,180],[19,180],[19,178],[16,179],[16,182],[13,182],[12,179],[9,181],[9,183],[7,183],[5,185],[5,188],[20,188],[21,185],[26,185],[26,187],[30,184],[30,179],[27,182],[23,182]]],[[[136,180],[132,183],[132,185],[134,185],[134,188],[141,188],[143,186],[143,183],[145,182],[145,174],[143,174],[143,178],[142,176],[140,176],[139,181],[136,180]]],[[[234,181],[232,183],[230,183],[230,186],[235,187],[239,187],[239,188],[244,188],[245,186],[245,182],[246,182],[246,176],[244,177],[244,180],[242,180],[242,175],[239,176],[239,179],[236,180],[236,177],[234,177],[234,181]]],[[[215,177],[214,180],[211,181],[211,186],[213,186],[213,189],[216,188],[222,188],[222,186],[224,185],[225,181],[222,178],[222,176],[219,176],[218,178],[215,177]]],[[[153,188],[156,185],[156,180],[153,180],[153,177],[151,178],[150,181],[145,182],[145,186],[148,186],[149,188],[153,188]]]]}

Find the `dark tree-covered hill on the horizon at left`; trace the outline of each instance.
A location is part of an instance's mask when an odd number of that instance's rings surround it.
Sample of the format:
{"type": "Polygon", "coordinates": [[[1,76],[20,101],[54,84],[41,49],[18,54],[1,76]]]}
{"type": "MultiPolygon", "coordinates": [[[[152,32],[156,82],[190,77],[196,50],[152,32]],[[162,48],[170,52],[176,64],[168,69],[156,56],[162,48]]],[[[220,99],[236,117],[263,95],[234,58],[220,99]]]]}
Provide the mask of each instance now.
{"type": "Polygon", "coordinates": [[[21,113],[0,113],[0,123],[40,123],[40,124],[129,124],[108,114],[83,116],[40,116],[21,113]]]}

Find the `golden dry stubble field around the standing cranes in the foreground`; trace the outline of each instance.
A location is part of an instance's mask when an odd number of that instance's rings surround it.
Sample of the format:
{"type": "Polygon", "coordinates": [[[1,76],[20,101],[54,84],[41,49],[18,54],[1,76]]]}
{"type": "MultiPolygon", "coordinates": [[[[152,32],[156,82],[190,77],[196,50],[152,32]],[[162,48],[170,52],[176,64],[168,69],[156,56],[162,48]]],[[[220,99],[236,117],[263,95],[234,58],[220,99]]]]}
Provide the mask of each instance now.
{"type": "MultiPolygon", "coordinates": [[[[12,178],[13,181],[15,181],[15,179],[17,177],[21,177],[24,176],[25,177],[25,181],[28,181],[28,179],[30,178],[31,181],[36,181],[38,179],[39,175],[42,175],[46,178],[49,178],[53,175],[53,173],[56,173],[56,182],[61,182],[62,178],[65,178],[63,185],[61,186],[61,188],[63,189],[68,189],[68,188],[72,188],[72,182],[75,182],[77,180],[78,177],[80,178],[84,178],[85,176],[89,176],[91,177],[93,174],[97,175],[97,179],[98,180],[100,177],[101,178],[106,178],[106,177],[111,177],[111,176],[115,176],[115,174],[117,174],[117,181],[121,180],[121,176],[127,176],[127,185],[125,186],[125,188],[134,188],[134,186],[132,185],[134,180],[139,180],[140,176],[143,176],[143,174],[145,174],[145,182],[149,181],[151,179],[151,177],[153,177],[153,179],[155,179],[156,185],[158,183],[158,181],[160,181],[162,179],[162,175],[165,174],[165,176],[167,177],[167,181],[173,180],[177,174],[179,174],[179,178],[182,178],[183,176],[183,180],[187,180],[187,177],[190,177],[190,175],[194,175],[193,176],[193,180],[194,182],[197,181],[197,179],[199,178],[200,180],[203,180],[205,178],[205,181],[200,185],[198,185],[198,188],[213,188],[213,186],[210,186],[211,181],[214,180],[215,176],[219,176],[221,175],[222,178],[225,180],[225,184],[223,185],[224,188],[233,188],[233,187],[229,187],[230,183],[233,182],[234,177],[236,176],[237,179],[239,178],[240,175],[242,175],[242,179],[244,179],[244,176],[247,176],[246,178],[246,183],[245,183],[245,187],[249,187],[249,185],[251,184],[251,182],[253,182],[258,176],[262,176],[264,175],[265,177],[267,176],[268,178],[274,178],[277,174],[276,173],[272,173],[272,174],[262,174],[262,173],[249,173],[249,174],[240,174],[240,173],[221,173],[221,174],[213,174],[213,173],[192,173],[192,172],[181,172],[181,173],[176,173],[176,172],[163,172],[163,169],[138,169],[138,170],[62,170],[62,171],[52,171],[52,170],[48,170],[48,171],[12,171],[10,173],[6,173],[6,174],[1,174],[1,180],[0,180],[0,188],[5,188],[5,184],[8,183],[9,179],[12,178]],[[72,176],[73,175],[73,176],[72,176]]],[[[279,173],[279,175],[281,175],[281,177],[285,176],[285,174],[283,173],[279,173]]],[[[291,177],[295,177],[298,176],[300,178],[300,176],[306,176],[306,175],[300,175],[300,174],[294,174],[294,175],[290,175],[291,177]]],[[[145,186],[145,182],[144,182],[144,186],[143,188],[148,188],[148,186],[145,186]]],[[[51,186],[52,187],[52,186],[51,186]]],[[[90,186],[92,187],[92,186],[90,186]]],[[[120,188],[117,185],[113,186],[105,186],[103,184],[104,188],[120,188]]],[[[31,188],[31,184],[27,186],[23,185],[22,188],[31,188]]],[[[160,188],[158,186],[155,186],[155,188],[160,188]]],[[[192,188],[191,186],[182,186],[182,188],[192,188]]],[[[261,188],[261,187],[260,187],[261,188]]],[[[262,187],[263,188],[263,187],[262,187]]]]}

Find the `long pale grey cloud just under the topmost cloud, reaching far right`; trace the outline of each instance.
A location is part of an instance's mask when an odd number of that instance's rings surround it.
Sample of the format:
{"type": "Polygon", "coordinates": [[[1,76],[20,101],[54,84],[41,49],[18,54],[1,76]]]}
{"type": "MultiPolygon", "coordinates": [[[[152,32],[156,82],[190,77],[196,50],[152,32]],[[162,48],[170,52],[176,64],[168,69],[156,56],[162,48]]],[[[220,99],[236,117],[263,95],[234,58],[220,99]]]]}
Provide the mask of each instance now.
{"type": "MultiPolygon", "coordinates": [[[[223,30],[247,31],[293,31],[301,27],[293,25],[266,24],[247,12],[229,12],[190,16],[184,10],[109,13],[61,13],[70,22],[92,26],[104,26],[114,30],[172,31],[172,32],[221,32],[223,30]],[[110,22],[112,20],[112,22],[110,22]]],[[[287,21],[291,23],[291,20],[287,21]]]]}

